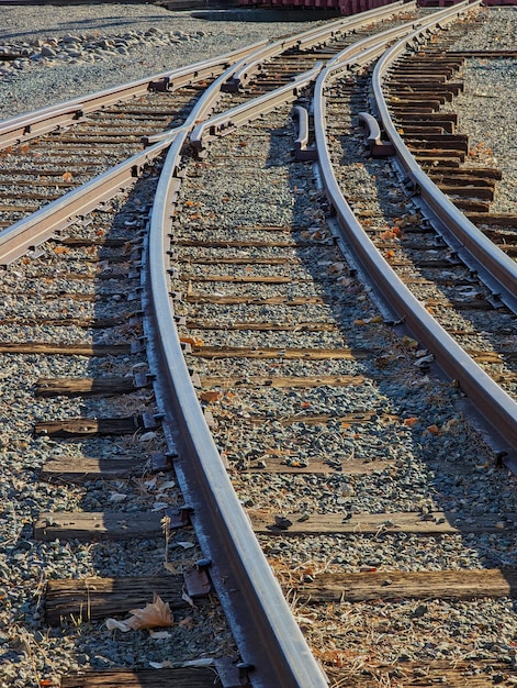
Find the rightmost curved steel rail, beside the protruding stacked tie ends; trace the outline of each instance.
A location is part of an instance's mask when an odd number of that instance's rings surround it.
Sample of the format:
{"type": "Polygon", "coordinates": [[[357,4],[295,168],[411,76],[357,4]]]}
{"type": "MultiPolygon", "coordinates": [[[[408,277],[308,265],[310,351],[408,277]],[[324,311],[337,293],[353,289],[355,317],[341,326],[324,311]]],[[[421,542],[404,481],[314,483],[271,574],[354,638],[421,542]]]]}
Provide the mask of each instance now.
{"type": "MultiPolygon", "coordinates": [[[[475,0],[472,4],[479,4],[475,0]]],[[[459,5],[456,5],[459,7],[459,5]]],[[[416,32],[415,32],[416,33],[416,32]]],[[[494,280],[507,290],[512,299],[517,296],[517,264],[483,234],[451,200],[429,179],[408,151],[396,131],[382,91],[384,77],[393,62],[405,51],[404,41],[396,43],[375,65],[372,77],[375,107],[384,131],[395,147],[396,156],[422,200],[438,220],[451,231],[477,264],[491,273],[494,280]]]]}

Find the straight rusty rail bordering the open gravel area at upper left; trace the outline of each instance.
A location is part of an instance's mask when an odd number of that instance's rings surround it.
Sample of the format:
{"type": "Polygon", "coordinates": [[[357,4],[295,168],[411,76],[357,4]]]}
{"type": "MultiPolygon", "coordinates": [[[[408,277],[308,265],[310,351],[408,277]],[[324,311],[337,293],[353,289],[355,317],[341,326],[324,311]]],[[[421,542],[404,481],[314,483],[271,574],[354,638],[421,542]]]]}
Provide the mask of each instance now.
{"type": "Polygon", "coordinates": [[[194,81],[214,77],[216,74],[227,69],[232,64],[240,64],[240,60],[249,53],[255,53],[267,44],[268,41],[263,40],[226,55],[11,118],[0,124],[0,148],[41,136],[59,126],[71,124],[82,119],[89,112],[141,96],[149,90],[176,90],[194,81]]]}

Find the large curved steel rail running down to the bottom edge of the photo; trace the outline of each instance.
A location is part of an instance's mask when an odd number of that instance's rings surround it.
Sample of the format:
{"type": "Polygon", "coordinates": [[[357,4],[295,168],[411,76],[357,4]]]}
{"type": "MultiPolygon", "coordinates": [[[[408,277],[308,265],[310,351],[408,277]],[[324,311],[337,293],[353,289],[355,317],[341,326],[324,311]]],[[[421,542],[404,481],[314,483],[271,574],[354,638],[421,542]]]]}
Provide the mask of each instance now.
{"type": "MultiPolygon", "coordinates": [[[[366,48],[364,59],[371,59],[372,53],[379,54],[379,51],[385,49],[386,40],[393,40],[395,35],[407,33],[411,29],[412,24],[406,24],[382,34],[382,48],[372,38],[361,42],[366,48]]],[[[353,51],[356,64],[361,56],[357,49],[353,51]]],[[[314,79],[319,69],[318,66],[311,76],[304,75],[307,82],[314,79]]],[[[278,89],[283,90],[283,101],[290,89],[293,89],[293,85],[278,89]]],[[[265,101],[262,106],[270,109],[270,101],[261,100],[265,101]]],[[[246,103],[234,110],[243,110],[243,114],[245,110],[249,113],[250,108],[246,103]]],[[[235,112],[233,116],[235,119],[235,112]]],[[[233,121],[228,113],[224,113],[203,124],[213,127],[215,122],[221,124],[224,118],[228,123],[233,121]]],[[[191,143],[201,142],[201,136],[195,138],[194,132],[191,143]]],[[[168,234],[171,230],[170,206],[177,193],[175,179],[186,137],[187,132],[181,132],[167,154],[151,213],[145,262],[147,277],[144,293],[148,313],[145,331],[149,360],[156,377],[155,392],[169,441],[179,450],[180,458],[175,463],[175,468],[188,506],[193,510],[192,520],[204,552],[210,555],[212,580],[224,603],[243,658],[255,667],[252,685],[265,688],[318,688],[327,686],[327,679],[292,618],[282,590],[232,488],[193,389],[176,328],[173,295],[170,293],[168,278],[168,234]]]]}

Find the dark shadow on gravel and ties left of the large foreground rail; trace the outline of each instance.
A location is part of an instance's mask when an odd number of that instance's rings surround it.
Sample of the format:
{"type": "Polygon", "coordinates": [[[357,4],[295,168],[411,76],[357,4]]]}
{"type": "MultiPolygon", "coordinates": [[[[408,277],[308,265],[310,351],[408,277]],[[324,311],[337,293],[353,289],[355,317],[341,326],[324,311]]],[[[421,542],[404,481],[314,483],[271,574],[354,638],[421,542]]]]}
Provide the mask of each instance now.
{"type": "MultiPolygon", "coordinates": [[[[99,423],[103,430],[99,435],[65,428],[49,437],[55,446],[55,459],[61,465],[60,474],[53,479],[56,490],[59,491],[63,484],[76,484],[77,506],[67,511],[83,511],[91,518],[87,522],[65,519],[64,532],[59,535],[53,535],[52,528],[60,523],[60,514],[48,519],[50,542],[46,547],[50,558],[57,562],[48,578],[114,579],[99,587],[93,581],[91,590],[78,588],[72,595],[71,611],[68,592],[60,621],[56,622],[56,611],[53,611],[49,635],[56,639],[65,635],[76,646],[79,667],[149,669],[151,662],[170,666],[177,658],[201,656],[204,652],[216,656],[227,642],[225,633],[216,636],[212,630],[214,620],[217,623],[220,617],[220,624],[224,625],[216,604],[206,609],[201,601],[194,610],[182,598],[182,568],[193,566],[201,558],[201,552],[191,529],[175,531],[170,541],[162,530],[164,509],[173,509],[183,503],[183,499],[173,473],[154,469],[153,457],[167,453],[159,422],[146,425],[143,421],[146,414],[153,419],[157,408],[150,379],[146,379],[149,368],[145,347],[137,353],[144,334],[137,266],[156,182],[156,175],[150,173],[135,184],[125,200],[115,198],[89,217],[91,225],[81,234],[99,246],[86,241],[85,245],[70,248],[70,254],[81,255],[81,265],[82,259],[89,262],[95,277],[93,308],[86,299],[85,308],[70,304],[68,317],[83,313],[85,342],[111,347],[108,353],[89,357],[86,375],[98,384],[111,380],[114,385],[113,393],[80,395],[79,404],[74,396],[71,399],[61,397],[60,413],[66,418],[87,419],[82,423],[85,428],[88,423],[99,423]],[[134,389],[120,393],[127,379],[134,380],[134,389]],[[120,423],[124,425],[123,433],[116,431],[120,423]],[[99,518],[99,513],[104,513],[104,518],[99,518]],[[85,529],[82,534],[81,529],[85,529]],[[108,537],[102,532],[95,536],[95,529],[106,529],[108,537]],[[69,553],[76,562],[71,570],[59,564],[68,559],[69,553]],[[166,561],[168,570],[164,566],[166,561]],[[177,575],[173,575],[175,568],[177,575]],[[124,587],[124,578],[133,582],[126,581],[124,587]],[[150,604],[154,592],[164,595],[173,610],[175,623],[160,642],[147,630],[123,633],[106,628],[109,618],[127,619],[131,609],[150,604]]],[[[70,258],[74,260],[72,256],[70,258]]],[[[80,366],[77,370],[70,369],[70,377],[83,377],[85,370],[79,370],[80,366]]],[[[45,468],[49,468],[48,464],[45,468]]],[[[53,501],[50,496],[49,501],[53,501]]],[[[47,610],[48,599],[47,593],[47,610]]]]}

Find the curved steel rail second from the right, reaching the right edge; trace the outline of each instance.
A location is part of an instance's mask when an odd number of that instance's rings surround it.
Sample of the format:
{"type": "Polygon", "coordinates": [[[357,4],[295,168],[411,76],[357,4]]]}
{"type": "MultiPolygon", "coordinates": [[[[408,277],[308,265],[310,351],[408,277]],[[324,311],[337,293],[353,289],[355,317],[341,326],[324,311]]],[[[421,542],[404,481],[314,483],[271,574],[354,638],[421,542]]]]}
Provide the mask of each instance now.
{"type": "MultiPolygon", "coordinates": [[[[434,16],[434,22],[453,21],[468,2],[453,5],[434,16]]],[[[406,42],[407,43],[407,42],[406,42]]],[[[459,346],[427,312],[393,268],[381,256],[347,203],[329,160],[325,122],[325,85],[346,65],[328,65],[319,75],[314,95],[314,126],[318,165],[326,195],[339,220],[340,237],[349,245],[368,274],[380,298],[397,312],[414,335],[431,351],[442,369],[457,379],[488,423],[510,446],[517,445],[517,403],[459,346]]]]}

